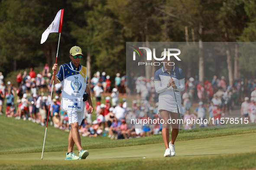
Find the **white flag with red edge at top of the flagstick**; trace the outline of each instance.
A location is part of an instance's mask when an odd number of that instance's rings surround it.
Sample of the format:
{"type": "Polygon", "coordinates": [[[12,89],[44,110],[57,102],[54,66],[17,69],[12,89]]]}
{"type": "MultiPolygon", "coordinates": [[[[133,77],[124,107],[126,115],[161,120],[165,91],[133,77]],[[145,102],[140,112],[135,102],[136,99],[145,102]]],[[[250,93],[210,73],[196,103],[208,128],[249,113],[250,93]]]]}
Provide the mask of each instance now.
{"type": "Polygon", "coordinates": [[[43,44],[46,41],[46,39],[48,38],[51,32],[58,32],[58,33],[62,32],[63,14],[64,14],[64,9],[61,9],[58,11],[51,25],[49,25],[49,27],[42,34],[41,44],[43,44]]]}

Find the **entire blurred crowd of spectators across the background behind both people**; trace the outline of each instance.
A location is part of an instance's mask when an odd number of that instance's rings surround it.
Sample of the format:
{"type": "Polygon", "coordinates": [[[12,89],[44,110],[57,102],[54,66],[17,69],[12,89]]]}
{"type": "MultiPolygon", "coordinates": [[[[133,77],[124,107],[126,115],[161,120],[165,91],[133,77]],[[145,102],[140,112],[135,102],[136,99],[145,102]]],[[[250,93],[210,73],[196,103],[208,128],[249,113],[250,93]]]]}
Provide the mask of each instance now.
{"type": "MultiPolygon", "coordinates": [[[[0,72],[0,114],[4,101],[5,115],[20,120],[31,120],[45,126],[49,113],[49,123],[55,128],[69,131],[68,115],[60,109],[62,84],[53,87],[53,97],[50,99],[52,73],[45,64],[42,72],[36,74],[33,69],[19,72],[17,87],[11,82],[4,85],[4,77],[0,72]],[[51,108],[49,104],[51,103],[51,108]]],[[[161,133],[162,124],[157,112],[158,95],[154,87],[154,78],[135,77],[133,73],[127,78],[117,73],[114,82],[106,72],[94,73],[90,83],[91,94],[95,101],[96,119],[92,120],[87,114],[88,103],[84,120],[79,132],[82,136],[96,137],[106,135],[110,139],[128,139],[149,136],[161,133]],[[134,96],[131,106],[126,99],[119,100],[121,93],[134,96]],[[131,123],[131,120],[140,123],[131,123]],[[141,123],[143,120],[152,120],[152,123],[141,123]]],[[[185,81],[185,90],[181,92],[182,106],[185,110],[184,121],[191,119],[204,120],[208,117],[214,121],[199,127],[218,126],[222,116],[231,114],[233,107],[241,106],[241,116],[256,122],[256,79],[235,79],[233,85],[228,85],[224,76],[218,79],[214,76],[211,81],[199,82],[198,76],[190,77],[185,81]],[[193,109],[193,110],[192,110],[193,109]]],[[[195,123],[186,123],[183,129],[194,129],[195,123]]]]}

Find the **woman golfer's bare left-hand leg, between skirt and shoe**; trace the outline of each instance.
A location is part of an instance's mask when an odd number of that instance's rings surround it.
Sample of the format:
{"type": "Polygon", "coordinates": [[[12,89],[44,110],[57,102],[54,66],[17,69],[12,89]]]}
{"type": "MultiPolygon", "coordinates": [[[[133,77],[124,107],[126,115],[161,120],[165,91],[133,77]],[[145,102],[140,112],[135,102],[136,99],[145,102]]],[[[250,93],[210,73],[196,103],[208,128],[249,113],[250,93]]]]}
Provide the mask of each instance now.
{"type": "Polygon", "coordinates": [[[162,124],[162,137],[163,137],[163,141],[165,144],[165,148],[169,148],[169,129],[170,129],[170,124],[168,124],[168,120],[169,120],[169,111],[166,110],[160,110],[160,114],[161,114],[161,119],[164,120],[164,123],[162,124]]]}

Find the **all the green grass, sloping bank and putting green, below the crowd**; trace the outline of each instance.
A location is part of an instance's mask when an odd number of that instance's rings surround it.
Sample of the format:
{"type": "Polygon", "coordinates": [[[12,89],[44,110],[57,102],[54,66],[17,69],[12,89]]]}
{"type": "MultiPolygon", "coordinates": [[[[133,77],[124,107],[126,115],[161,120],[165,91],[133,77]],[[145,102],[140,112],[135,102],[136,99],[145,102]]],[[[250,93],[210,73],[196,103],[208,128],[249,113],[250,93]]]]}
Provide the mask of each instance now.
{"type": "Polygon", "coordinates": [[[41,160],[45,127],[0,116],[0,129],[1,170],[256,169],[256,129],[183,130],[175,142],[175,157],[163,157],[161,135],[127,140],[81,137],[90,154],[78,161],[64,160],[67,132],[48,127],[41,160]]]}

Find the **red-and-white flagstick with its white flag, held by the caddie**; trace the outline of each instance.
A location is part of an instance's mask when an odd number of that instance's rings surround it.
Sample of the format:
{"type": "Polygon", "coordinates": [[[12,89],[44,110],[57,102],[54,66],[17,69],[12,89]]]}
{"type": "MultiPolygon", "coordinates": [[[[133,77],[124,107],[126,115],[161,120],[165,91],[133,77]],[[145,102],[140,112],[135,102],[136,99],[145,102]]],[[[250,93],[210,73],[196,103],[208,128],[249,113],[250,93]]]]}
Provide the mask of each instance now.
{"type": "MultiPolygon", "coordinates": [[[[64,14],[64,9],[59,10],[59,12],[57,13],[57,16],[55,17],[52,24],[42,34],[41,44],[46,41],[49,33],[58,32],[59,33],[58,47],[59,47],[59,41],[60,41],[61,32],[62,32],[63,14],[64,14]],[[57,23],[54,23],[54,22],[57,22],[57,23]],[[55,27],[53,28],[53,26],[55,26],[55,27]],[[53,29],[53,30],[51,30],[51,29],[53,29]]],[[[57,55],[56,55],[55,64],[57,64],[57,59],[58,59],[58,48],[57,48],[57,55]]],[[[55,77],[55,70],[54,70],[53,76],[55,77]]],[[[53,91],[53,86],[54,86],[54,79],[53,79],[53,82],[52,82],[52,91],[53,91]]],[[[49,104],[49,109],[48,109],[48,116],[47,116],[47,122],[46,122],[46,128],[45,128],[45,136],[46,136],[47,126],[48,126],[51,102],[52,102],[52,92],[51,92],[50,104],[49,104]]],[[[42,156],[43,156],[43,153],[44,153],[44,148],[45,148],[45,138],[44,138],[44,144],[43,144],[43,149],[42,149],[42,156]]],[[[43,159],[43,158],[41,157],[41,159],[43,159]]]]}

